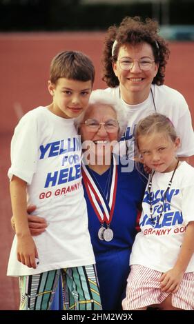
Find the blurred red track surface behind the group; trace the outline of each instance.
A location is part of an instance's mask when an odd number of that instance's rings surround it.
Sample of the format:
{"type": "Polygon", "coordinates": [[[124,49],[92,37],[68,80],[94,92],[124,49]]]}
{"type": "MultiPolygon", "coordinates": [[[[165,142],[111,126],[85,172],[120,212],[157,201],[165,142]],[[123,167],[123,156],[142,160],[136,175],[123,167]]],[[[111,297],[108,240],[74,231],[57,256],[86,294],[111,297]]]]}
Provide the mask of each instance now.
{"type": "MultiPolygon", "coordinates": [[[[47,90],[48,69],[50,60],[57,52],[81,50],[88,54],[96,68],[94,88],[106,88],[106,84],[101,81],[100,61],[103,40],[104,34],[99,32],[0,34],[0,310],[17,310],[19,305],[18,281],[6,277],[13,238],[7,178],[12,132],[22,113],[38,105],[50,103],[47,90]]],[[[170,43],[170,49],[171,59],[166,70],[166,85],[182,92],[194,121],[194,42],[170,43]]]]}

